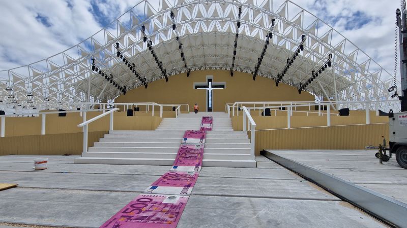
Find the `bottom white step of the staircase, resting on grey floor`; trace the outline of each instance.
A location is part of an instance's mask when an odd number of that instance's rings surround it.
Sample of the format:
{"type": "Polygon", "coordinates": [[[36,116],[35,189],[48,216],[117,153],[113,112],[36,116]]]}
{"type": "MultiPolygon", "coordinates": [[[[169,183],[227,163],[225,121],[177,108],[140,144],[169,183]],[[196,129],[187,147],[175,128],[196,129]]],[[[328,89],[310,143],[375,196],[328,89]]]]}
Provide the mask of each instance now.
{"type": "MultiPolygon", "coordinates": [[[[83,164],[113,164],[113,165],[163,165],[170,166],[173,159],[137,159],[137,158],[75,158],[75,163],[83,164]]],[[[212,160],[203,159],[203,166],[208,167],[242,167],[256,168],[255,160],[212,160]]]]}

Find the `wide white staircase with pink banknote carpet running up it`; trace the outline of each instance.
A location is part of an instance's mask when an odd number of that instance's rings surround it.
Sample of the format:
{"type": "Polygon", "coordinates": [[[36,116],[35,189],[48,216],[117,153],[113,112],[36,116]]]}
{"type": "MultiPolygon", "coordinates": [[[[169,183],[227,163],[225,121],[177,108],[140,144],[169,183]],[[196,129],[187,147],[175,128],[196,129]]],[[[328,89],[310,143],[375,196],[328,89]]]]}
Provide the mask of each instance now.
{"type": "Polygon", "coordinates": [[[75,163],[172,165],[186,130],[199,130],[202,116],[212,116],[207,131],[203,166],[255,168],[246,132],[234,131],[224,112],[180,114],[164,118],[155,131],[110,131],[75,163]]]}

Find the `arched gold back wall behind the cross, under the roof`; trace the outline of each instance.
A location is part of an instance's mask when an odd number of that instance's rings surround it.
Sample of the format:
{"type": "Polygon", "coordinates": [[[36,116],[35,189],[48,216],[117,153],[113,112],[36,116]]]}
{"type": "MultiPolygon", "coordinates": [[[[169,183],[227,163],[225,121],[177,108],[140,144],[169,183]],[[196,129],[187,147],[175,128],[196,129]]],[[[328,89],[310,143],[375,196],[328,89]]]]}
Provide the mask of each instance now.
{"type": "MultiPolygon", "coordinates": [[[[156,103],[187,103],[190,111],[195,103],[198,103],[201,111],[206,110],[207,90],[194,89],[194,83],[206,82],[207,75],[213,76],[213,82],[225,82],[225,89],[213,90],[213,111],[224,111],[226,103],[236,101],[314,101],[315,98],[309,93],[298,93],[295,87],[280,84],[276,87],[274,80],[257,77],[253,81],[249,73],[235,72],[230,77],[228,70],[200,70],[192,71],[187,78],[186,73],[158,80],[149,84],[149,87],[139,87],[128,91],[115,99],[117,103],[127,102],[156,102],[156,103]]],[[[140,106],[140,110],[145,107],[140,106]]],[[[170,107],[166,107],[170,109],[170,107]]],[[[158,107],[155,109],[158,110],[158,107]]],[[[184,109],[182,109],[184,110],[184,109]]]]}

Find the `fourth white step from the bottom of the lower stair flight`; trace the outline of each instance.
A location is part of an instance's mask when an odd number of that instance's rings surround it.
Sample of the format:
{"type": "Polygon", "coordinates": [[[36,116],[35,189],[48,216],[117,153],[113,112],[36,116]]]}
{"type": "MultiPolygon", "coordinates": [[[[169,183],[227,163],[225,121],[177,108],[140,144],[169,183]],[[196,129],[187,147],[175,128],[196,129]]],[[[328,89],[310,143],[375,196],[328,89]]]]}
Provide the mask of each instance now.
{"type": "MultiPolygon", "coordinates": [[[[95,147],[179,147],[180,142],[95,142],[95,147]]],[[[208,143],[205,148],[250,148],[250,143],[208,143]]]]}

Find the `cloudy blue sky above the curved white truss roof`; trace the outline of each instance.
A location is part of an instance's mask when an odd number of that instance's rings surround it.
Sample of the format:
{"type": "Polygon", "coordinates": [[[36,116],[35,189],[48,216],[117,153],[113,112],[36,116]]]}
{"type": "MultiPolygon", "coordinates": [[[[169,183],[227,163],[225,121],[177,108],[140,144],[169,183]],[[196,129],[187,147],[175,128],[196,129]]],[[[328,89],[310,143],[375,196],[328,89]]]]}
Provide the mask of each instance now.
{"type": "MultiPolygon", "coordinates": [[[[138,2],[140,0],[0,0],[0,70],[66,50],[138,2]]],[[[395,10],[400,7],[399,1],[294,2],[328,22],[390,73],[393,71],[395,10]]]]}

